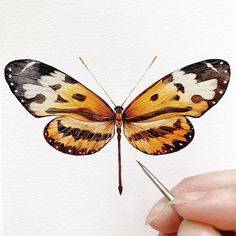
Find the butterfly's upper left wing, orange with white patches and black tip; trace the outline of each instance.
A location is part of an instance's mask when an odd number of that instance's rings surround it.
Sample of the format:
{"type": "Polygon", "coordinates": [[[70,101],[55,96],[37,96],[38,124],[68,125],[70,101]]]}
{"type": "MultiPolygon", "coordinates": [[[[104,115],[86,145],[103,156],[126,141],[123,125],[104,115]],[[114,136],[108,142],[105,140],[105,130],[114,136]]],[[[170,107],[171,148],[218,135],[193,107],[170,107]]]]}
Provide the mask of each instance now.
{"type": "Polygon", "coordinates": [[[36,117],[76,114],[83,121],[114,119],[114,112],[98,95],[42,62],[12,61],[5,77],[16,98],[36,117]]]}

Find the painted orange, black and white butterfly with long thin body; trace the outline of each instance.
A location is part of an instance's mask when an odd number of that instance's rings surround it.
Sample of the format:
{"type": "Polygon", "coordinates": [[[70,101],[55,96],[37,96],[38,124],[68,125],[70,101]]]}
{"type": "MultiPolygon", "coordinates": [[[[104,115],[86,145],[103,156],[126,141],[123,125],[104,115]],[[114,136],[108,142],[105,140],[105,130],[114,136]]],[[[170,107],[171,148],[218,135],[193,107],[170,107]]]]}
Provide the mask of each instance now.
{"type": "Polygon", "coordinates": [[[163,155],[186,147],[194,137],[187,117],[200,117],[221,99],[230,78],[229,64],[209,59],[158,80],[125,109],[114,110],[97,94],[64,72],[30,59],[5,68],[6,81],[35,117],[55,116],[44,128],[46,141],[70,155],[102,149],[117,132],[118,190],[122,193],[121,130],[139,151],[163,155]]]}

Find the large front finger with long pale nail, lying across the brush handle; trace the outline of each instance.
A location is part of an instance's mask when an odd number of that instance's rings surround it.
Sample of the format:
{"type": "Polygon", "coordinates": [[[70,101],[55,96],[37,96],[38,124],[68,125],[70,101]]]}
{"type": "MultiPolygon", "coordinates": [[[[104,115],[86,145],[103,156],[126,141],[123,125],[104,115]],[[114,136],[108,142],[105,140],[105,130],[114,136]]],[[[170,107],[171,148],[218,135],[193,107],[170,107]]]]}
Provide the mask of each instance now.
{"type": "Polygon", "coordinates": [[[221,230],[236,230],[236,189],[184,193],[179,197],[174,207],[183,218],[221,230]]]}

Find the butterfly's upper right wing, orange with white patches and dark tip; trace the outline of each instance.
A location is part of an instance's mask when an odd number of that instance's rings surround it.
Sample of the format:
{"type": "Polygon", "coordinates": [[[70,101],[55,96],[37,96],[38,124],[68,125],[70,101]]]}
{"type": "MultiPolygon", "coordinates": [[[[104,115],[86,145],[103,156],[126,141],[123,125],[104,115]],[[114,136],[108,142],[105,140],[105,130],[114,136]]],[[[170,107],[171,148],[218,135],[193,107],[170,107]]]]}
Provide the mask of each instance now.
{"type": "Polygon", "coordinates": [[[200,117],[225,93],[230,77],[226,61],[211,59],[177,70],[157,81],[124,111],[130,122],[184,115],[200,117]]]}

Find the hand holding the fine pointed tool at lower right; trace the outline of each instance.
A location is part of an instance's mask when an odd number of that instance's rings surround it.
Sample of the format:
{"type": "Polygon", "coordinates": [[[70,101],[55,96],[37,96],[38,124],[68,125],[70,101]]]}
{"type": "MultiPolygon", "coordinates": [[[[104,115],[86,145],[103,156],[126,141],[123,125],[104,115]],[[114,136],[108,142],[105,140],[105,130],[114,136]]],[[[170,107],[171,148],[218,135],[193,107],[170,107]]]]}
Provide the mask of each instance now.
{"type": "Polygon", "coordinates": [[[172,193],[173,203],[161,199],[146,219],[159,236],[236,235],[236,170],[188,177],[172,193]]]}

